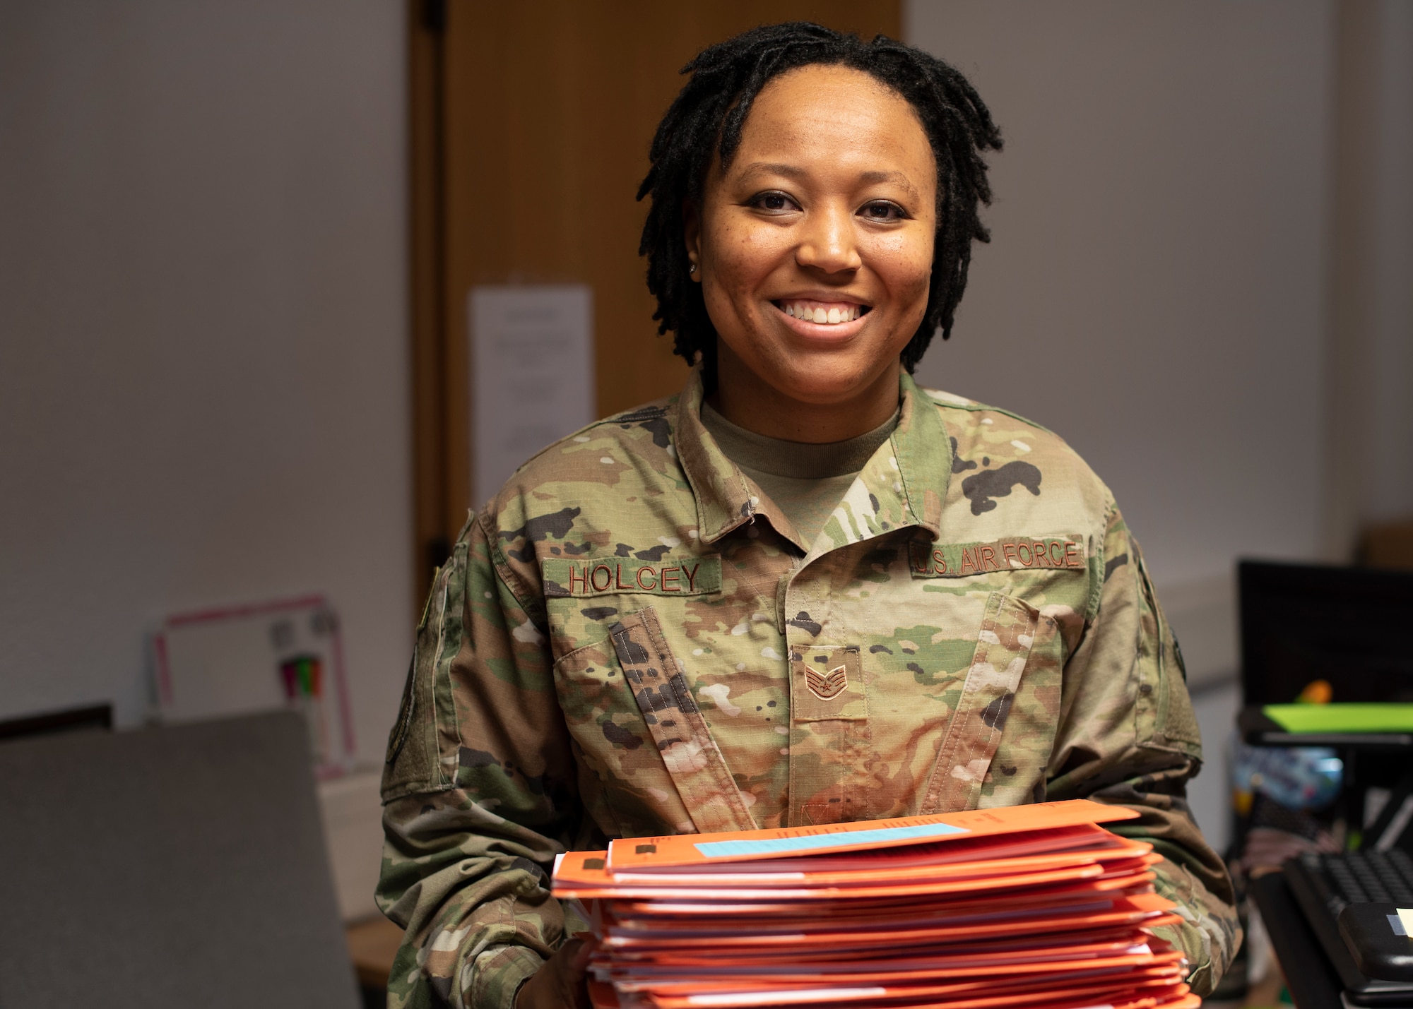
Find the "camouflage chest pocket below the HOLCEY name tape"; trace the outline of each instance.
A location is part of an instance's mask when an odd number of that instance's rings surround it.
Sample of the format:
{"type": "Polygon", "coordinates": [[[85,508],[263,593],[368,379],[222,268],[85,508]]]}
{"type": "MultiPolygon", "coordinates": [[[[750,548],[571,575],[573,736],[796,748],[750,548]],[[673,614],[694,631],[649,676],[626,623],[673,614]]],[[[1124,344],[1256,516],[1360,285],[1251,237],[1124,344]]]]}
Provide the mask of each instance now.
{"type": "Polygon", "coordinates": [[[625,834],[755,830],[651,606],[560,659],[555,688],[625,834]]]}

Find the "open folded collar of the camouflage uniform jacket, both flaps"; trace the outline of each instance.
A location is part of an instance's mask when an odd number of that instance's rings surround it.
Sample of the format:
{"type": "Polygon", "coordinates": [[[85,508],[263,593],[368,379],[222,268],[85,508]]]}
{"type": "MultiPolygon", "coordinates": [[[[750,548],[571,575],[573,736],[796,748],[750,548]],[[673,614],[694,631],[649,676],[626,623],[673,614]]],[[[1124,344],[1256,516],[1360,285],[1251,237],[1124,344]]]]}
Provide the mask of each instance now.
{"type": "MultiPolygon", "coordinates": [[[[757,514],[769,517],[777,530],[793,533],[788,520],[770,502],[753,493],[753,485],[702,425],[702,399],[701,367],[694,367],[677,400],[673,428],[677,456],[697,497],[697,526],[702,541],[715,543],[757,514]]],[[[901,526],[921,526],[934,540],[940,534],[942,497],[952,469],[947,428],[931,399],[901,367],[899,399],[897,428],[863,466],[841,505],[845,509],[839,514],[845,541],[856,543],[901,526]],[[870,521],[865,512],[893,516],[893,520],[883,520],[887,521],[885,526],[870,521]]]]}

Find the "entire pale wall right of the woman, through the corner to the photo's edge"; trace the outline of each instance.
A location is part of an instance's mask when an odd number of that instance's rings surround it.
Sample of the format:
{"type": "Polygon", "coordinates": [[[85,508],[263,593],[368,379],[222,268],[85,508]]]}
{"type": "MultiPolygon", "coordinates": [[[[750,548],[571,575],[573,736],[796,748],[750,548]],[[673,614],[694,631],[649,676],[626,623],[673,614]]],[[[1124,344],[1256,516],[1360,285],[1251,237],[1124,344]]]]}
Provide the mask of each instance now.
{"type": "Polygon", "coordinates": [[[1413,4],[906,0],[1006,137],[930,384],[1113,489],[1187,657],[1229,835],[1238,557],[1413,516],[1413,4]]]}

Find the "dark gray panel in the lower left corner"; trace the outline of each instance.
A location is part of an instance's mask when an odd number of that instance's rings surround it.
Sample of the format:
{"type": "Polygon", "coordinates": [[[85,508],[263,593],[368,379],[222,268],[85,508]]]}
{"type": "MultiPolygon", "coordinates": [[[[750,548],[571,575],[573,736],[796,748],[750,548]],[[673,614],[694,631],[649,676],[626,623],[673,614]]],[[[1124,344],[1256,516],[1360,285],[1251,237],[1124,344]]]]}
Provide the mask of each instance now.
{"type": "Polygon", "coordinates": [[[292,714],[0,742],[0,1008],[353,1009],[292,714]]]}

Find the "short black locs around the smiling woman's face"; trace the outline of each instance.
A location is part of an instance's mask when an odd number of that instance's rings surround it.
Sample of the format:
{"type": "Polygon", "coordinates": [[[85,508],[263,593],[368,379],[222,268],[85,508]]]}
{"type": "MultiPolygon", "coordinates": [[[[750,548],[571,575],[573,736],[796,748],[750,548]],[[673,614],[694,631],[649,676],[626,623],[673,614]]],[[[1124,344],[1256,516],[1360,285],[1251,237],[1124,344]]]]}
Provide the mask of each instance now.
{"type": "Polygon", "coordinates": [[[688,277],[682,208],[699,203],[712,154],[729,165],[752,102],[773,78],[815,64],[849,66],[901,95],[927,133],[937,160],[937,236],[923,324],[903,348],[903,365],[917,366],[937,329],[947,339],[966,287],[974,240],[989,242],[978,216],[991,202],[981,151],[1000,150],[1000,131],[966,78],[921,49],[877,35],[865,42],[808,21],[773,24],[704,49],[682,68],[691,73],[649,151],[651,168],[637,198],[651,196],[639,254],[647,257],[647,288],[657,298],[658,334],[671,329],[673,349],[688,362],[699,353],[708,386],[715,384],[716,331],[701,287],[688,277]]]}

